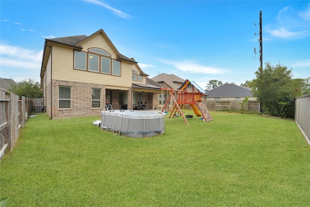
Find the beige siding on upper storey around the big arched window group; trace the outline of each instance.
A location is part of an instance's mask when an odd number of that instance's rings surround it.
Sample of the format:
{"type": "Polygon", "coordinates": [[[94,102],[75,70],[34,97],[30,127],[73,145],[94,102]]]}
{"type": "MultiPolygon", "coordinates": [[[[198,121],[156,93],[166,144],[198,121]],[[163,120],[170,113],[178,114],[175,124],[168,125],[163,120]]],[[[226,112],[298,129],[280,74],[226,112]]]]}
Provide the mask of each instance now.
{"type": "MultiPolygon", "coordinates": [[[[101,35],[98,35],[98,36],[101,36],[101,35]]],[[[84,45],[83,45],[83,48],[84,48],[84,45]]],[[[107,51],[110,52],[109,50],[107,51]]],[[[132,85],[132,80],[131,80],[132,79],[132,64],[129,62],[122,61],[121,62],[121,76],[113,76],[113,75],[106,75],[102,73],[73,69],[73,57],[74,57],[74,50],[72,48],[59,46],[59,45],[53,46],[53,65],[52,65],[53,66],[53,71],[52,71],[53,80],[68,80],[68,81],[76,81],[76,82],[105,84],[105,85],[116,86],[116,87],[125,87],[127,89],[131,87],[132,85]]]]}

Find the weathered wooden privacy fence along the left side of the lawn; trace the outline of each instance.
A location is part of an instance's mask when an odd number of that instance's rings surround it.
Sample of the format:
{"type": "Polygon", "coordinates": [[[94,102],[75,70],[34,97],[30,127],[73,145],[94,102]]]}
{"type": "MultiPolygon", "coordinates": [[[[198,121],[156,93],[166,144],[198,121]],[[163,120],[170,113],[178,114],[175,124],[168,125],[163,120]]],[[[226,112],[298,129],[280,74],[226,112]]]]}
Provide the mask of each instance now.
{"type": "Polygon", "coordinates": [[[31,99],[0,88],[0,160],[6,148],[13,150],[18,138],[18,130],[25,126],[31,112],[31,99]]]}

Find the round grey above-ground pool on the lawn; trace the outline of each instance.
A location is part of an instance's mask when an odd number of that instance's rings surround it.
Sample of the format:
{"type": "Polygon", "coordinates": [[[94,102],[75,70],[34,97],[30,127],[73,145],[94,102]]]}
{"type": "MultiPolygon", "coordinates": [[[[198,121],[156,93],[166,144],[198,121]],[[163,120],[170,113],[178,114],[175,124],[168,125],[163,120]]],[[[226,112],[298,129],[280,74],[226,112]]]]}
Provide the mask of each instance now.
{"type": "Polygon", "coordinates": [[[165,131],[165,115],[161,111],[101,111],[101,129],[128,137],[152,137],[165,131]]]}

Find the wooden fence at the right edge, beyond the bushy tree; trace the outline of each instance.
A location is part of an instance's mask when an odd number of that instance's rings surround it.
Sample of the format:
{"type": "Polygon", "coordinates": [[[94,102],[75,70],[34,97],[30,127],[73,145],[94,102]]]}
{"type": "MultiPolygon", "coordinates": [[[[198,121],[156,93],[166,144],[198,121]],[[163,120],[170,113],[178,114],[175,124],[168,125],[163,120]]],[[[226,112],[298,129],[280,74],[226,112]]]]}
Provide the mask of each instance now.
{"type": "Polygon", "coordinates": [[[310,144],[310,94],[295,99],[295,122],[310,144]]]}

